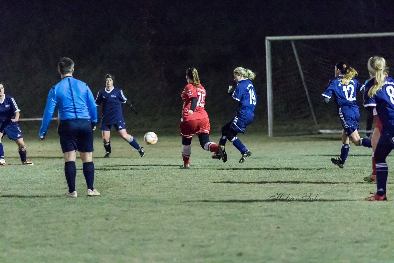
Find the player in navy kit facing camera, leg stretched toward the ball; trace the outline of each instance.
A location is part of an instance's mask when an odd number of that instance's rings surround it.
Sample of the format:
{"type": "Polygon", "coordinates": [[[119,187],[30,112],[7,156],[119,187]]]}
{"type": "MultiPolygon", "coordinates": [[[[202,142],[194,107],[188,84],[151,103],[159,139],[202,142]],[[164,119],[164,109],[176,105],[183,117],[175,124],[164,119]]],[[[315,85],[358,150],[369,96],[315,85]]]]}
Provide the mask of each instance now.
{"type": "Polygon", "coordinates": [[[141,157],[144,157],[144,148],[126,131],[121,103],[126,103],[127,99],[123,95],[123,91],[113,86],[115,78],[112,74],[107,74],[104,78],[105,88],[101,89],[96,97],[96,105],[99,106],[102,103],[100,130],[106,151],[104,157],[108,158],[111,156],[110,131],[112,126],[116,131],[119,131],[126,142],[138,150],[141,157]]]}

